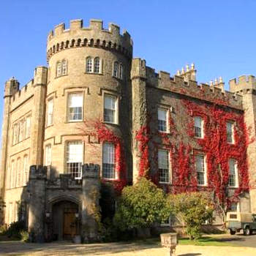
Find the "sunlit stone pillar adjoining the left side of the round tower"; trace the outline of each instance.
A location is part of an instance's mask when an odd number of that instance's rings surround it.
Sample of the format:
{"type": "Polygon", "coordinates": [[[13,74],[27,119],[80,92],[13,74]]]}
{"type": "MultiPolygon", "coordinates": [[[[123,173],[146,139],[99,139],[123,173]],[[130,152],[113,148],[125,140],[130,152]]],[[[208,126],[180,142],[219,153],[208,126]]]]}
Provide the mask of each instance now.
{"type": "Polygon", "coordinates": [[[45,136],[45,96],[47,67],[37,67],[34,71],[34,109],[31,122],[31,165],[43,164],[43,141],[45,136]]]}

